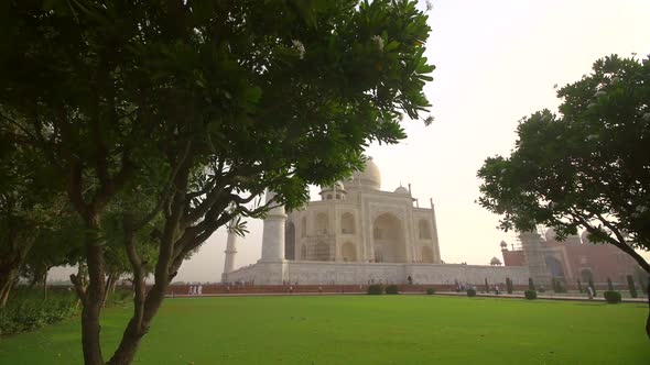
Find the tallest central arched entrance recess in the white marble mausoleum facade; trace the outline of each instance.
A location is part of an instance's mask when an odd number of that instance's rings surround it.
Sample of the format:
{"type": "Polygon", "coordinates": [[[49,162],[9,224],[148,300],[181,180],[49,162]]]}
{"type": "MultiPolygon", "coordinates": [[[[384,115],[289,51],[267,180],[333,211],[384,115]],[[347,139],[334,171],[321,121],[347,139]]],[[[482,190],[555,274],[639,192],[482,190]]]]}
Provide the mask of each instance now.
{"type": "Polygon", "coordinates": [[[375,220],[375,261],[378,263],[405,263],[407,245],[400,220],[391,213],[383,213],[375,220]]]}

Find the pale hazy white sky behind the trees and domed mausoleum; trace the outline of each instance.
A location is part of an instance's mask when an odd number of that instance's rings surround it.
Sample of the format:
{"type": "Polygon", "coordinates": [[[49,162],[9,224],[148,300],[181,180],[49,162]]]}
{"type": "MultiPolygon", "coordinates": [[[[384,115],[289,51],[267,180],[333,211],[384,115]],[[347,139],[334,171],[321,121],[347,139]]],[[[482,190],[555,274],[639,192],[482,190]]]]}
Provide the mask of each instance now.
{"type": "MultiPolygon", "coordinates": [[[[426,54],[436,70],[425,92],[435,122],[405,120],[408,140],[371,146],[368,155],[379,166],[382,190],[411,182],[422,207],[433,198],[443,261],[488,264],[500,258],[499,242],[511,243],[513,235],[497,230],[498,217],[475,203],[477,169],[486,157],[509,153],[521,117],[556,109],[554,84],[578,80],[605,55],[649,54],[650,1],[432,3],[426,54]]],[[[262,223],[251,221],[249,228],[239,240],[236,267],[260,257],[262,223]]],[[[176,280],[219,281],[225,246],[220,229],[183,264],[176,280]]]]}

